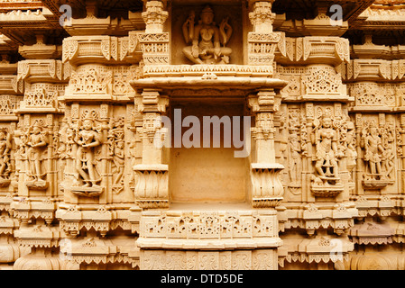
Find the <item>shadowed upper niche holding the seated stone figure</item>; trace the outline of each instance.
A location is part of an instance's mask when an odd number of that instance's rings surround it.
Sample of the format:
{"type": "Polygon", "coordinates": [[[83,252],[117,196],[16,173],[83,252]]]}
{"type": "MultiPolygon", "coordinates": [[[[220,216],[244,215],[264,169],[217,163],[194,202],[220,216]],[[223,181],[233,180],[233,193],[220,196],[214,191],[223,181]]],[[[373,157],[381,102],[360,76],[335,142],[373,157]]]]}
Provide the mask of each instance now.
{"type": "Polygon", "coordinates": [[[176,0],[171,15],[171,64],[244,64],[244,45],[241,44],[244,17],[240,0],[176,0]],[[198,49],[194,53],[197,54],[193,56],[192,39],[198,39],[198,34],[201,37],[196,43],[198,49]],[[215,40],[220,42],[217,58],[213,56],[215,40]]]}

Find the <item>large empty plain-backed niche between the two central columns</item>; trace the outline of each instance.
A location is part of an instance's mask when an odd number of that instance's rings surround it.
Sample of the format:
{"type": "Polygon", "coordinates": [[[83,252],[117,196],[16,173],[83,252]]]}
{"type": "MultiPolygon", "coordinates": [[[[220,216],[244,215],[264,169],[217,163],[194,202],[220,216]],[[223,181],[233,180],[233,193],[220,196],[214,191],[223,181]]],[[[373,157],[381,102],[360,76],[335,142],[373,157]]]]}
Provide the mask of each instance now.
{"type": "MultiPolygon", "coordinates": [[[[249,150],[244,145],[245,143],[242,144],[242,141],[246,142],[244,130],[250,129],[250,123],[244,124],[244,118],[240,116],[244,116],[242,101],[237,103],[235,101],[230,103],[196,101],[171,103],[170,202],[246,202],[249,150]],[[181,117],[179,117],[179,111],[181,117]],[[214,125],[211,125],[210,128],[207,128],[206,125],[207,118],[214,120],[215,116],[224,121],[220,125],[219,133],[214,129],[214,125]],[[233,116],[238,116],[239,124],[234,123],[233,116]],[[193,123],[189,124],[189,127],[179,127],[181,123],[176,122],[175,117],[177,120],[181,119],[183,126],[190,118],[198,119],[201,133],[199,148],[187,148],[183,144],[179,147],[179,138],[175,143],[176,129],[178,129],[178,135],[179,129],[181,129],[183,139],[187,136],[186,139],[191,139],[193,143],[196,143],[193,137],[189,137],[188,132],[193,127],[193,123]],[[185,119],[186,121],[184,121],[185,119]],[[229,130],[229,122],[232,125],[231,130],[229,130]],[[249,127],[246,127],[247,125],[249,127]],[[207,129],[209,129],[209,148],[207,148],[207,129]],[[216,138],[214,134],[220,135],[220,137],[216,138]],[[234,134],[235,137],[239,136],[240,141],[234,140],[234,134]],[[229,139],[229,135],[231,135],[231,139],[229,139]],[[230,147],[227,147],[229,142],[230,147]],[[243,150],[247,151],[246,154],[242,153],[235,157],[235,151],[243,150]]],[[[216,127],[218,126],[216,125],[216,127]]]]}

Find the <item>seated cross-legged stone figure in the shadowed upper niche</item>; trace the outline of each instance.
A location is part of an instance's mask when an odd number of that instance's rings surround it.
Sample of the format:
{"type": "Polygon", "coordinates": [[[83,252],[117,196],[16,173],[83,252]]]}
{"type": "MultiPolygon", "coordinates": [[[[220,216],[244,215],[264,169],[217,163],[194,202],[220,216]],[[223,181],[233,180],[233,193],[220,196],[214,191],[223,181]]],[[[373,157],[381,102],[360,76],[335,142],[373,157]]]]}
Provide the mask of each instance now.
{"type": "Polygon", "coordinates": [[[225,47],[231,37],[232,27],[225,18],[219,28],[214,23],[214,12],[207,6],[200,14],[201,20],[194,26],[192,12],[183,24],[183,36],[191,46],[183,49],[184,55],[195,64],[227,64],[232,49],[225,47]],[[221,47],[221,43],[224,47],[221,47]]]}

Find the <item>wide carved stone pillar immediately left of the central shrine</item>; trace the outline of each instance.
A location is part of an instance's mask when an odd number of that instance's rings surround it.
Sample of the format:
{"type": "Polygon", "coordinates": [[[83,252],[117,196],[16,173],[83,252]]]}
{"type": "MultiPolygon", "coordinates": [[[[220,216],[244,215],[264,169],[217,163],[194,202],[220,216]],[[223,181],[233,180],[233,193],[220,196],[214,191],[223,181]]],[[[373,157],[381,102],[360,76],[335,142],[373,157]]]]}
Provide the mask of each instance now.
{"type": "Polygon", "coordinates": [[[136,249],[130,247],[134,251],[128,259],[129,249],[118,252],[121,244],[107,232],[124,229],[133,243],[130,234],[139,223],[131,189],[133,142],[139,136],[133,130],[135,93],[129,80],[139,77],[140,56],[131,36],[118,31],[133,31],[131,21],[142,19],[129,13],[131,20],[116,23],[99,17],[95,2],[86,5],[87,17],[71,19],[71,37],[63,40],[62,49],[69,85],[60,97],[66,105],[63,203],[57,211],[66,237],[60,253],[81,269],[94,263],[121,265],[123,257],[125,265],[137,266],[136,249]]]}

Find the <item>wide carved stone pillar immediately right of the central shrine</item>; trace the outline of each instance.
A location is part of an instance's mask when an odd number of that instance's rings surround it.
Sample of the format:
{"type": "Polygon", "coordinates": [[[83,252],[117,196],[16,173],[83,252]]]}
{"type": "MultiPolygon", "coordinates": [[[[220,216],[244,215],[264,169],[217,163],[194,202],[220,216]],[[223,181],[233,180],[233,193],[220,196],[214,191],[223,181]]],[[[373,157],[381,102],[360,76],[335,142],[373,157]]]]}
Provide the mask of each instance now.
{"type": "MultiPolygon", "coordinates": [[[[333,228],[340,236],[353,226],[357,214],[350,202],[356,184],[356,130],[349,116],[354,98],[347,93],[341,71],[350,62],[349,41],[341,37],[348,26],[329,18],[329,7],[330,2],[317,3],[315,18],[285,21],[281,30],[287,33],[294,27],[296,34],[285,39],[285,47],[278,48],[275,58],[275,76],[289,81],[280,92],[281,105],[285,105],[285,114],[280,113],[281,137],[287,143],[288,163],[282,175],[282,204],[289,211],[281,212],[280,218],[290,218],[283,224],[286,237],[281,238],[286,243],[294,238],[293,232],[289,235],[296,225],[292,223],[306,229],[311,238],[295,239],[300,241],[295,257],[308,263],[317,257],[337,263],[330,253],[330,243],[336,239],[327,235],[327,229],[333,228]],[[298,207],[297,202],[306,204],[298,207]],[[290,211],[294,216],[288,216],[290,211]],[[325,247],[315,248],[321,246],[325,247]],[[314,248],[318,255],[312,255],[314,248]]],[[[343,245],[339,247],[343,262],[354,247],[346,246],[348,238],[338,241],[343,245]]],[[[291,257],[290,251],[285,253],[291,257]]]]}

